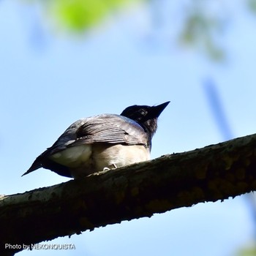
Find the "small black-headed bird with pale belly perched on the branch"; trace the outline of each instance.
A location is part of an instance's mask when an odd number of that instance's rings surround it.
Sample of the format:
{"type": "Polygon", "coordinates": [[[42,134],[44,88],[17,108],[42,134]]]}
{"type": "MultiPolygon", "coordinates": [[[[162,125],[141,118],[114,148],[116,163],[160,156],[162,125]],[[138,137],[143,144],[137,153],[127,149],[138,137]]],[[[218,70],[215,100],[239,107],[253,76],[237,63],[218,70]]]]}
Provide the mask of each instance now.
{"type": "Polygon", "coordinates": [[[132,105],[120,114],[81,118],[32,163],[22,176],[43,167],[68,178],[83,178],[150,159],[157,118],[170,102],[132,105]]]}

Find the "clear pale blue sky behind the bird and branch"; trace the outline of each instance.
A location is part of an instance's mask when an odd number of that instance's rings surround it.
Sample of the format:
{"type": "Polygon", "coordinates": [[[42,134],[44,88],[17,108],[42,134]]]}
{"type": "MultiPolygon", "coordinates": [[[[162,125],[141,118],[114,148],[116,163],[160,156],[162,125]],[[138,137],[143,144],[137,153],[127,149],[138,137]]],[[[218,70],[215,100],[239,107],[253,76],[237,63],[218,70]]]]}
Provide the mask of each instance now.
{"type": "MultiPolygon", "coordinates": [[[[182,15],[178,8],[160,31],[141,7],[77,38],[51,33],[39,14],[39,7],[23,1],[0,3],[0,194],[67,181],[43,169],[20,176],[73,121],[121,113],[133,104],[170,100],[152,158],[219,143],[222,134],[203,87],[207,78],[217,84],[233,135],[255,133],[256,21],[243,7],[229,13],[220,39],[229,58],[219,65],[175,44],[170,25],[182,15]]],[[[225,256],[252,241],[253,232],[248,203],[236,197],[48,242],[75,244],[75,250],[18,255],[225,256]]]]}

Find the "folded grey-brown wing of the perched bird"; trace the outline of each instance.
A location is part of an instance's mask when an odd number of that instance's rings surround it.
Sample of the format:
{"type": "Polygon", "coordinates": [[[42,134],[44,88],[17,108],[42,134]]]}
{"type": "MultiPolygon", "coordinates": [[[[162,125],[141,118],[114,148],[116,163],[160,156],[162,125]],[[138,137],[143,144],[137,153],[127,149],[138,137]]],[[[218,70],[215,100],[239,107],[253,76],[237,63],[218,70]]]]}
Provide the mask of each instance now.
{"type": "Polygon", "coordinates": [[[65,148],[91,143],[113,143],[124,145],[147,145],[148,138],[143,127],[124,116],[104,114],[83,118],[72,124],[48,148],[55,154],[65,148]]]}

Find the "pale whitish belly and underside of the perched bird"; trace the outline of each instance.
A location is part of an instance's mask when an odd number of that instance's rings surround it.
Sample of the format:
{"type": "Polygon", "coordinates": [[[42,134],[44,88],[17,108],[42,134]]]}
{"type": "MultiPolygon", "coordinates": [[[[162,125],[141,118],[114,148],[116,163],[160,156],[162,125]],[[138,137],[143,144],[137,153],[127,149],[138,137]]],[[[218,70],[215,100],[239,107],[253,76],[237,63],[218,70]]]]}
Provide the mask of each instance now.
{"type": "Polygon", "coordinates": [[[85,144],[72,146],[53,154],[50,159],[70,168],[74,178],[88,176],[105,168],[113,169],[150,159],[142,145],[85,144]]]}

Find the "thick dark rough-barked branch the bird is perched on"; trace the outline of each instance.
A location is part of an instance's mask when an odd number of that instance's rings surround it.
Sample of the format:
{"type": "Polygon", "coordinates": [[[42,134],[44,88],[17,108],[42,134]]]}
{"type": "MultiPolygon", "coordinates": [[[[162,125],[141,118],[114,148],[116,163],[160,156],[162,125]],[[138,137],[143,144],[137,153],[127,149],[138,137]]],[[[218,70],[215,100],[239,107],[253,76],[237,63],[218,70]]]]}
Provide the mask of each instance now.
{"type": "Polygon", "coordinates": [[[11,255],[5,244],[34,244],[255,190],[255,146],[256,134],[0,197],[0,254],[11,255]]]}

